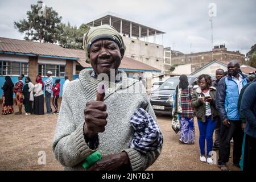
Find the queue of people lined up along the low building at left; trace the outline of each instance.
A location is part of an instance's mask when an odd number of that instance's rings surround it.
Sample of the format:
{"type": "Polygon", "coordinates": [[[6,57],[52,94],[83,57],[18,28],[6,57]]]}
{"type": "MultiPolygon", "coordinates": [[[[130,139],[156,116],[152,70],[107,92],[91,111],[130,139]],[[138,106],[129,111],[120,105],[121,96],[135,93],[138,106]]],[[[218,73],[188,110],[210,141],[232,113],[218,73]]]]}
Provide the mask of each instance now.
{"type": "MultiPolygon", "coordinates": [[[[30,77],[25,78],[24,75],[18,77],[18,81],[14,84],[10,76],[5,77],[5,84],[2,86],[2,114],[13,114],[13,96],[15,94],[15,104],[18,105],[19,111],[14,114],[22,114],[22,106],[26,115],[30,114],[44,114],[44,90],[46,96],[46,114],[59,114],[59,107],[57,100],[60,95],[60,79],[56,79],[53,84],[52,72],[47,72],[47,80],[43,82],[42,76],[36,76],[36,84],[34,85],[30,77]],[[53,95],[52,105],[55,111],[51,109],[51,96],[53,95]]],[[[65,76],[63,90],[69,82],[68,77],[65,76]]]]}

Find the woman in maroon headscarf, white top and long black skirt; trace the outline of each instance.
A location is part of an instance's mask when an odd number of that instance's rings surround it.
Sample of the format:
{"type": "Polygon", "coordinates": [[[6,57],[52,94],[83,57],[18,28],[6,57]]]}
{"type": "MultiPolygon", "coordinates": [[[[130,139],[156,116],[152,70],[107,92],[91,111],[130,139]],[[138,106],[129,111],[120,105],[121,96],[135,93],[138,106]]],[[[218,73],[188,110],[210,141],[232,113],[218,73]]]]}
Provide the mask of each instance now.
{"type": "Polygon", "coordinates": [[[34,114],[44,114],[44,82],[42,76],[36,76],[36,84],[34,86],[34,114]]]}

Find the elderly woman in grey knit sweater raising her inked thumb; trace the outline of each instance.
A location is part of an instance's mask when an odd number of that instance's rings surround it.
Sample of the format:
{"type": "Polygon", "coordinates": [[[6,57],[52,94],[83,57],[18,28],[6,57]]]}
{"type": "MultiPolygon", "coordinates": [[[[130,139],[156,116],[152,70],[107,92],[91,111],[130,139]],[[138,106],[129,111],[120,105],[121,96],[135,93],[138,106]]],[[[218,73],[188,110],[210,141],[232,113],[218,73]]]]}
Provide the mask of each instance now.
{"type": "Polygon", "coordinates": [[[93,71],[82,70],[79,80],[65,88],[53,139],[56,159],[65,169],[82,170],[85,158],[97,150],[103,157],[89,170],[146,169],[160,155],[163,137],[142,84],[118,71],[125,53],[122,36],[106,24],[90,28],[84,35],[84,49],[93,71]],[[104,101],[97,101],[102,83],[104,101]],[[150,124],[147,131],[156,143],[138,142],[136,146],[143,147],[134,147],[132,122],[142,128],[150,124]]]}

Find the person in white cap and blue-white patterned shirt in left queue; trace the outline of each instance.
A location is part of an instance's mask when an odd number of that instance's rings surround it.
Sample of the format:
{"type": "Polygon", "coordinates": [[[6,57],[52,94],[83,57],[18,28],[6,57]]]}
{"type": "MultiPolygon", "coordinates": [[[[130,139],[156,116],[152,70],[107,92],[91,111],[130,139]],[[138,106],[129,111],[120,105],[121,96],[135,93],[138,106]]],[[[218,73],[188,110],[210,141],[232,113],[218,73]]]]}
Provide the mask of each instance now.
{"type": "Polygon", "coordinates": [[[52,108],[51,108],[51,94],[52,94],[52,72],[47,72],[48,79],[44,81],[44,85],[46,85],[46,110],[47,114],[52,114],[52,108]]]}

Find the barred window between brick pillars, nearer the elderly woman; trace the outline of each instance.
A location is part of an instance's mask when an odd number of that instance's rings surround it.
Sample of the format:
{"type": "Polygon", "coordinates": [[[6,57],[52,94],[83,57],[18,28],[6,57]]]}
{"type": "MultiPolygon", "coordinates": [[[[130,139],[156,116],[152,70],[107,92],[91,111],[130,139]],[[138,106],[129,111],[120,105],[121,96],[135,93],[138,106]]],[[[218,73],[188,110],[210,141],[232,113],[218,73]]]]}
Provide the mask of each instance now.
{"type": "Polygon", "coordinates": [[[38,74],[46,76],[47,72],[51,71],[53,77],[64,77],[65,76],[65,65],[55,64],[38,64],[38,74]]]}

